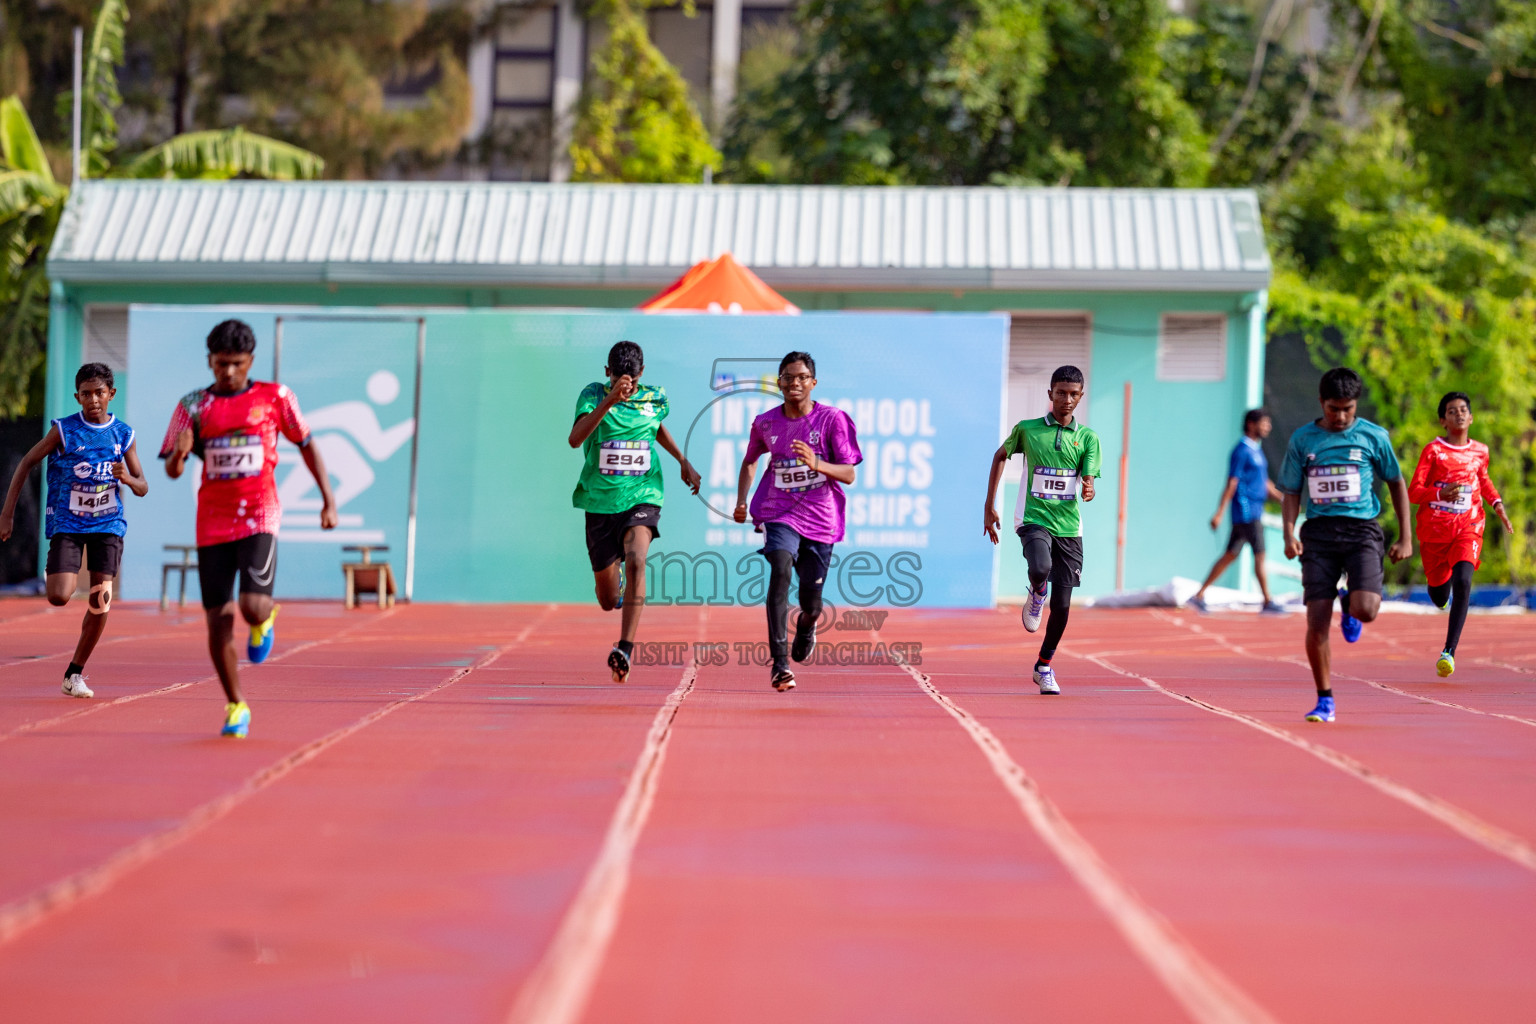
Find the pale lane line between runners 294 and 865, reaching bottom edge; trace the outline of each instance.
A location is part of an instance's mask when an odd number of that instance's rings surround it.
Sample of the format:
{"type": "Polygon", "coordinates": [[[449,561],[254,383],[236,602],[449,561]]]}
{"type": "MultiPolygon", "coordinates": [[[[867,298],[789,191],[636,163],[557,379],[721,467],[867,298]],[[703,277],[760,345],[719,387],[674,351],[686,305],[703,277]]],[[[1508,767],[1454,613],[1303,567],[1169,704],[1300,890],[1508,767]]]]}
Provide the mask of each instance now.
{"type": "Polygon", "coordinates": [[[673,720],[697,679],[699,665],[690,662],[682,682],[651,718],[641,757],[608,821],[598,860],[587,870],[587,878],[565,910],[544,958],[518,993],[518,1001],[507,1015],[508,1024],[574,1024],[587,1009],[608,944],[619,927],[619,910],[630,886],[630,863],[656,800],[673,720]]]}

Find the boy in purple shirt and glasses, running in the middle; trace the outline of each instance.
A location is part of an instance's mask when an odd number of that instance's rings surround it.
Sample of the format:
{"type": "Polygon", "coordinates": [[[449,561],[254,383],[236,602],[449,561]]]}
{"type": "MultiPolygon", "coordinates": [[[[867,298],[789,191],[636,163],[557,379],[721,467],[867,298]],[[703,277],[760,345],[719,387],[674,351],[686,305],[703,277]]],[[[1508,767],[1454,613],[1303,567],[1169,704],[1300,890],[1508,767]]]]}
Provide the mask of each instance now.
{"type": "Polygon", "coordinates": [[[843,539],[843,485],[852,485],[863,461],[848,413],[811,401],[816,359],[791,352],[779,361],[783,405],[753,421],[746,457],[736,484],[736,522],[746,522],[746,491],[757,476],[757,459],[770,456],[768,476],[753,494],[753,525],[768,540],[768,652],[770,682],[794,689],[790,657],[805,662],[816,649],[816,620],[822,614],[822,586],[833,560],[833,545],[843,539]],[[800,617],[790,649],[790,568],[800,577],[800,617]]]}

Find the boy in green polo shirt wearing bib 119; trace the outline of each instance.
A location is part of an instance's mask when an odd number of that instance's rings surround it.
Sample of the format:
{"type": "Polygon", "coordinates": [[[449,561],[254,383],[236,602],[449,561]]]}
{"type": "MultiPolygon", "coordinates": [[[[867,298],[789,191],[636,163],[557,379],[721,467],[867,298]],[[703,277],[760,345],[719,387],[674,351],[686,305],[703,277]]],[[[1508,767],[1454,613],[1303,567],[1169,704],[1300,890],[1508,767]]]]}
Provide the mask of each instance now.
{"type": "Polygon", "coordinates": [[[1083,401],[1083,372],[1058,367],[1051,375],[1051,411],[1035,419],[1020,421],[997,453],[992,474],[986,482],[986,513],[982,528],[997,543],[997,484],[1003,467],[1015,454],[1025,456],[1025,479],[1018,485],[1014,505],[1014,531],[1025,545],[1029,563],[1029,600],[1025,602],[1025,629],[1040,628],[1051,593],[1051,620],[1046,639],[1035,659],[1035,685],[1041,694],[1060,694],[1051,659],[1055,656],[1068,614],[1072,611],[1072,588],[1083,585],[1083,516],[1078,510],[1078,485],[1083,500],[1094,500],[1094,477],[1100,471],[1098,434],[1072,419],[1083,401]]]}

